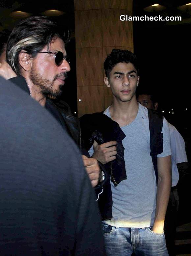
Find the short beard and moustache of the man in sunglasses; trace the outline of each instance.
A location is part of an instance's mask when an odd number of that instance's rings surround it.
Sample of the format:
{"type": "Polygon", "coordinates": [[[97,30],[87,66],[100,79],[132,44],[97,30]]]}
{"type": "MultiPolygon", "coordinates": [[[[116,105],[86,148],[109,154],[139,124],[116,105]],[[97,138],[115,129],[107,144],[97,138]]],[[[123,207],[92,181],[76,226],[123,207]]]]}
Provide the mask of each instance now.
{"type": "Polygon", "coordinates": [[[56,74],[52,80],[44,78],[41,74],[39,74],[36,71],[36,67],[33,66],[30,71],[30,80],[33,82],[34,85],[36,85],[40,89],[40,93],[42,95],[48,96],[54,96],[54,97],[60,97],[63,92],[64,85],[60,84],[58,86],[58,89],[54,88],[54,82],[59,77],[65,77],[67,78],[66,72],[61,72],[60,74],[56,74]]]}

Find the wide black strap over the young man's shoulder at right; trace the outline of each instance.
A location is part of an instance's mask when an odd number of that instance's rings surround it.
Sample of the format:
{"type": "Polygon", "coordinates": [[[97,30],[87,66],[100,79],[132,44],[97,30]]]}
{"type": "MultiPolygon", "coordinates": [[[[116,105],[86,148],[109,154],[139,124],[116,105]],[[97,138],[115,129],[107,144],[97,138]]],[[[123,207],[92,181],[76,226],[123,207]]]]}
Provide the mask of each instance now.
{"type": "Polygon", "coordinates": [[[148,109],[149,130],[150,130],[150,155],[156,175],[156,184],[158,182],[157,154],[163,152],[163,116],[152,109],[148,109]]]}

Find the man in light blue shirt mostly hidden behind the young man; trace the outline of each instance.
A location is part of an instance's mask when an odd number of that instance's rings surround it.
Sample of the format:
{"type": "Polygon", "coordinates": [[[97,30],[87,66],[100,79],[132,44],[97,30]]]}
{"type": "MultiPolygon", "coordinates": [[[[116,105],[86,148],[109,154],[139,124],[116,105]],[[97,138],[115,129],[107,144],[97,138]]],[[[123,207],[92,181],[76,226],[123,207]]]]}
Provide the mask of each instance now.
{"type": "MultiPolygon", "coordinates": [[[[137,96],[137,101],[143,106],[157,110],[158,102],[153,95],[147,90],[142,90],[137,96]]],[[[187,170],[187,156],[185,150],[185,142],[181,134],[177,131],[175,126],[168,122],[170,129],[171,140],[171,161],[172,161],[172,188],[170,192],[170,199],[167,207],[164,233],[166,238],[166,245],[170,256],[175,256],[175,237],[176,237],[176,224],[178,213],[178,191],[177,183],[180,175],[184,175],[187,170]]]]}

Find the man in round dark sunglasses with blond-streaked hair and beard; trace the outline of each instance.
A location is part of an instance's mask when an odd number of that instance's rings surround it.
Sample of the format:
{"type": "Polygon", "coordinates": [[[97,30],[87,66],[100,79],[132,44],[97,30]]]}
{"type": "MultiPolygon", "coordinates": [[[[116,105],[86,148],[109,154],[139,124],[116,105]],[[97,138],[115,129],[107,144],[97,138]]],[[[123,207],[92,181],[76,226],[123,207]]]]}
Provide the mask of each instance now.
{"type": "MultiPolygon", "coordinates": [[[[6,58],[17,75],[10,80],[51,112],[71,136],[67,120],[47,98],[48,95],[59,96],[62,93],[70,71],[65,50],[68,41],[68,34],[56,23],[46,17],[29,17],[19,22],[11,32],[6,58]]],[[[82,157],[95,187],[101,176],[98,162],[85,155],[82,157]]]]}

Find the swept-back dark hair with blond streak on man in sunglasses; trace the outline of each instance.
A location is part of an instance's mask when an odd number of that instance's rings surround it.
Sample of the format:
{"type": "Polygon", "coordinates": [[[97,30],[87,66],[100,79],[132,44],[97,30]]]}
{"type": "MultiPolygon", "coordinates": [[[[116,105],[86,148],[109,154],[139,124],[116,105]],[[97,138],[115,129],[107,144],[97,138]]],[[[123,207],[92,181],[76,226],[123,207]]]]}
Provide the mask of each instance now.
{"type": "Polygon", "coordinates": [[[32,16],[19,22],[7,42],[7,62],[18,75],[20,73],[19,53],[24,50],[31,57],[35,57],[56,37],[61,38],[66,44],[69,41],[69,32],[47,17],[32,16]]]}

